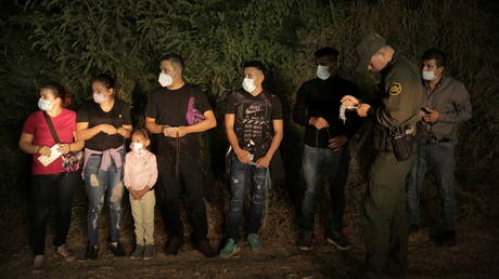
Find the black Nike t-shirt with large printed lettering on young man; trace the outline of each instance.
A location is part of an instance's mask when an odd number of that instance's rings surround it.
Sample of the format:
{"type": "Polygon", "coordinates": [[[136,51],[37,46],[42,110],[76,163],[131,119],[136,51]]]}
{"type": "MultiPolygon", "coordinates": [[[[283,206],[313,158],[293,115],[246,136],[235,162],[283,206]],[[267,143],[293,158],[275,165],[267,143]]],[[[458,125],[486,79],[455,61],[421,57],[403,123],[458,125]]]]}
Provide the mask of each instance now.
{"type": "Polygon", "coordinates": [[[234,115],[234,131],[240,147],[254,154],[254,160],[264,157],[273,137],[272,120],[282,119],[279,98],[266,91],[256,96],[247,92],[233,92],[227,99],[226,114],[234,115]]]}

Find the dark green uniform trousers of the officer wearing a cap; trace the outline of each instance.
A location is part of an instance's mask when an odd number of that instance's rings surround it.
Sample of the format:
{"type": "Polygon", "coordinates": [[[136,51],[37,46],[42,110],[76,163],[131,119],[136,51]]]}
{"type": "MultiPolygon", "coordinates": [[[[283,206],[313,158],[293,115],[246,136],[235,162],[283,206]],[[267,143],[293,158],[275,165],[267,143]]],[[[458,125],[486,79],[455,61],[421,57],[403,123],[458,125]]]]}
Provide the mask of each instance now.
{"type": "Polygon", "coordinates": [[[398,273],[407,267],[406,176],[414,158],[398,162],[393,152],[379,152],[371,167],[363,220],[369,269],[398,273]]]}

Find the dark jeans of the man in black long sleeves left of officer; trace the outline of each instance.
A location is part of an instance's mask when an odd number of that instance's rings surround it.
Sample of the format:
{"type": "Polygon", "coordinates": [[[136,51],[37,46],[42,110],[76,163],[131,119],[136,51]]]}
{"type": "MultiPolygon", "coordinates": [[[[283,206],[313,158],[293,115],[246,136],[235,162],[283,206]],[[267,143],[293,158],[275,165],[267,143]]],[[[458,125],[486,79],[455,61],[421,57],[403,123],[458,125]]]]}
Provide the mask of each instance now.
{"type": "Polygon", "coordinates": [[[345,145],[341,150],[331,148],[317,148],[305,145],[302,168],[305,177],[305,196],[302,203],[303,230],[314,229],[314,210],[316,196],[322,187],[322,174],[328,174],[329,190],[331,195],[331,225],[330,229],[340,230],[343,227],[343,213],[345,211],[345,185],[348,178],[349,149],[345,145]]]}

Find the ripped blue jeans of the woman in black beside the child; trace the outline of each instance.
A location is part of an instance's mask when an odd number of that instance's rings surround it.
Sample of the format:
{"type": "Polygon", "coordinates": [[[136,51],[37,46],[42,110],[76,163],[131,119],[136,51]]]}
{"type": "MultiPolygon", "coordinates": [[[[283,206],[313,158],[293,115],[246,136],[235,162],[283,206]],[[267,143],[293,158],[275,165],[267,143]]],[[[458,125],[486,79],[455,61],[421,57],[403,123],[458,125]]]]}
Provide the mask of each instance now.
{"type": "Polygon", "coordinates": [[[121,197],[124,192],[123,167],[112,164],[106,171],[99,170],[102,156],[90,156],[85,167],[85,184],[88,195],[88,240],[99,245],[99,215],[104,207],[104,198],[110,208],[111,242],[120,237],[121,197]]]}

